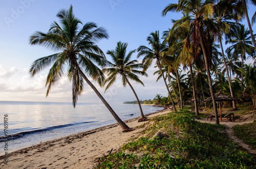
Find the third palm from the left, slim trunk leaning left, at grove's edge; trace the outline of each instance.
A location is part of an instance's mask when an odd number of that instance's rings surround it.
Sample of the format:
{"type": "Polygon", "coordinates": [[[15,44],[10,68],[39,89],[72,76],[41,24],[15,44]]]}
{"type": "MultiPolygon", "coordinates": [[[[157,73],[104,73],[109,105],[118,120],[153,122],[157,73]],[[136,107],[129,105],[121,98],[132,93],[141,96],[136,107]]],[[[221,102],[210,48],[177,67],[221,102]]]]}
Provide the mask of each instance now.
{"type": "Polygon", "coordinates": [[[165,77],[162,71],[161,62],[163,63],[169,63],[169,57],[165,55],[165,51],[167,50],[167,46],[164,43],[160,42],[159,39],[159,31],[156,31],[155,33],[151,33],[150,36],[147,37],[148,44],[151,45],[152,49],[146,47],[146,46],[139,46],[138,55],[137,58],[144,56],[142,60],[142,64],[145,65],[144,70],[146,70],[148,67],[151,66],[154,59],[156,59],[156,65],[158,66],[159,70],[161,71],[165,87],[168,91],[170,100],[172,101],[174,110],[176,110],[174,100],[172,98],[172,95],[170,94],[169,88],[167,86],[167,83],[165,81],[165,77]]]}

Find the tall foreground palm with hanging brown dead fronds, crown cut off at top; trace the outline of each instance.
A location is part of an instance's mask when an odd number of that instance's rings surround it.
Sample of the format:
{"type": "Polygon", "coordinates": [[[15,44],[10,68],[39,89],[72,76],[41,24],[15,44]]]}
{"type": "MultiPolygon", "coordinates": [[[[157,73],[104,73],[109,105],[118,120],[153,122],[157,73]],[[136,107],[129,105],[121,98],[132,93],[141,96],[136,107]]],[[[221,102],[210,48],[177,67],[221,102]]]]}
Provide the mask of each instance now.
{"type": "Polygon", "coordinates": [[[210,74],[210,61],[212,57],[212,43],[209,33],[209,29],[205,24],[205,21],[213,15],[214,4],[212,1],[202,0],[179,0],[178,4],[169,4],[162,11],[162,16],[165,16],[167,12],[183,12],[185,17],[177,20],[177,24],[182,23],[184,30],[189,27],[189,33],[186,38],[185,46],[188,47],[191,44],[195,58],[198,58],[198,47],[203,51],[204,63],[207,72],[209,88],[212,98],[212,104],[214,107],[214,113],[216,117],[216,124],[219,123],[218,110],[215,102],[214,89],[212,87],[212,80],[210,74]],[[198,44],[199,42],[199,44],[198,44]]]}

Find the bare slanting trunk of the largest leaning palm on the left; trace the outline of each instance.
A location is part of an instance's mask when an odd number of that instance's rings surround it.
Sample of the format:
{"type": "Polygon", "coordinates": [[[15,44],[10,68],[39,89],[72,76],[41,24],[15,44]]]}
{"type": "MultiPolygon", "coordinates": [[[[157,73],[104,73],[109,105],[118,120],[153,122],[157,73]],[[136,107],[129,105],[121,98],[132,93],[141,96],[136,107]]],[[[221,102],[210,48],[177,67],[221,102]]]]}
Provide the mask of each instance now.
{"type": "Polygon", "coordinates": [[[81,71],[81,69],[79,68],[79,66],[76,66],[78,72],[81,74],[81,76],[83,77],[84,80],[86,80],[86,82],[88,83],[88,85],[94,90],[94,92],[96,93],[96,95],[100,98],[100,100],[103,102],[103,104],[106,106],[106,108],[109,109],[109,111],[111,112],[112,116],[115,118],[115,120],[117,121],[117,123],[120,125],[120,127],[123,129],[123,131],[127,131],[130,129],[130,127],[128,127],[116,114],[116,112],[112,109],[112,107],[109,105],[108,102],[106,102],[106,100],[101,96],[101,94],[99,93],[99,91],[95,88],[95,86],[93,85],[93,83],[86,77],[86,75],[84,75],[84,73],[81,71]]]}

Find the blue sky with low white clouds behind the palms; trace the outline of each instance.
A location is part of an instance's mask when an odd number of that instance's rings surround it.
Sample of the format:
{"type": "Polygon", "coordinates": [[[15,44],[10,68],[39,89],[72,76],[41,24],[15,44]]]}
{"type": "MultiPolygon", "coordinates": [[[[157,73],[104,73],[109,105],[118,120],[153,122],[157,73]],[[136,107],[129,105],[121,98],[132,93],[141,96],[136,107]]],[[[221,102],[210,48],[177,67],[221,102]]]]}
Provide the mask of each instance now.
{"type": "MultiPolygon", "coordinates": [[[[0,0],[0,101],[44,101],[72,102],[71,82],[63,76],[51,88],[46,98],[46,77],[49,68],[33,78],[28,71],[34,60],[53,54],[54,51],[42,46],[29,44],[29,37],[35,31],[48,32],[50,24],[58,21],[56,14],[61,9],[73,11],[82,23],[93,21],[103,26],[110,36],[97,45],[104,53],[115,49],[118,41],[128,43],[127,50],[137,49],[140,45],[148,46],[146,37],[151,32],[163,31],[172,27],[172,19],[180,19],[180,13],[168,13],[165,17],[161,12],[165,6],[178,1],[153,0],[0,0]]],[[[255,12],[255,6],[249,6],[249,17],[255,12]]],[[[247,27],[247,22],[244,20],[247,27]]],[[[255,30],[256,26],[252,26],[255,30]]],[[[137,53],[132,59],[137,59],[137,53]]],[[[110,59],[106,55],[107,59],[110,59]]],[[[141,59],[138,59],[141,61],[141,59]]],[[[131,81],[139,99],[153,99],[156,94],[167,96],[163,80],[156,82],[153,75],[156,68],[148,69],[148,77],[141,77],[140,83],[131,81]]],[[[110,103],[136,100],[129,86],[122,87],[120,78],[115,85],[104,93],[97,83],[93,82],[103,97],[110,103]]],[[[84,85],[84,92],[78,98],[81,103],[100,102],[94,91],[84,85]]]]}

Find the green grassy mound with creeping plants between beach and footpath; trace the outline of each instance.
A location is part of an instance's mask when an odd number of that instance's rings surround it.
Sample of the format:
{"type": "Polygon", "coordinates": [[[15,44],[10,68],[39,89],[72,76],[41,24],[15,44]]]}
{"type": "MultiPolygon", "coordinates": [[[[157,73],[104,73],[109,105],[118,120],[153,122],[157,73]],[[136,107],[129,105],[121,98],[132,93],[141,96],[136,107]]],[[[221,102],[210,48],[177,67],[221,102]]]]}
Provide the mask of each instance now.
{"type": "Polygon", "coordinates": [[[195,118],[188,110],[153,118],[139,137],[98,158],[96,168],[256,168],[255,156],[218,132],[224,126],[195,118]],[[164,137],[149,140],[157,131],[164,137]]]}

